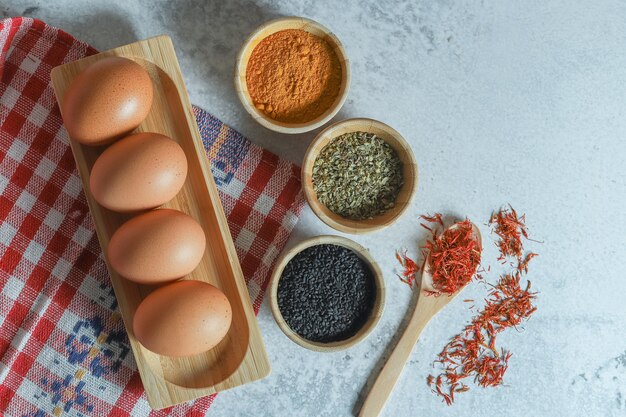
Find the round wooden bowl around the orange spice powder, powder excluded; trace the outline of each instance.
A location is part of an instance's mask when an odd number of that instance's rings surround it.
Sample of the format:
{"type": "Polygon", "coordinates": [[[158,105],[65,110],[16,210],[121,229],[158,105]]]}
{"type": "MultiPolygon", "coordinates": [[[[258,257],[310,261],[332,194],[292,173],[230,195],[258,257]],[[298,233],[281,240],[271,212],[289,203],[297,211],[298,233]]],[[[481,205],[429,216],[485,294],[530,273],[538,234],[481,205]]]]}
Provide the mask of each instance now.
{"type": "Polygon", "coordinates": [[[237,63],[235,66],[235,90],[237,91],[239,100],[241,100],[241,104],[243,104],[246,111],[250,113],[250,115],[257,122],[266,128],[279,133],[294,134],[308,132],[327,123],[333,118],[333,116],[335,116],[335,114],[337,114],[341,106],[343,106],[343,103],[346,101],[349,86],[350,65],[341,42],[339,42],[339,39],[337,39],[337,37],[327,28],[304,17],[283,17],[264,23],[252,32],[250,37],[248,37],[248,39],[244,42],[241,50],[239,51],[239,55],[237,56],[237,63]],[[341,86],[337,99],[322,115],[306,123],[284,123],[268,117],[265,113],[254,106],[250,93],[248,92],[248,85],[246,83],[248,61],[250,60],[250,56],[252,55],[254,48],[256,48],[256,46],[269,35],[287,29],[301,29],[324,39],[333,48],[339,58],[339,62],[341,63],[341,86]]]}

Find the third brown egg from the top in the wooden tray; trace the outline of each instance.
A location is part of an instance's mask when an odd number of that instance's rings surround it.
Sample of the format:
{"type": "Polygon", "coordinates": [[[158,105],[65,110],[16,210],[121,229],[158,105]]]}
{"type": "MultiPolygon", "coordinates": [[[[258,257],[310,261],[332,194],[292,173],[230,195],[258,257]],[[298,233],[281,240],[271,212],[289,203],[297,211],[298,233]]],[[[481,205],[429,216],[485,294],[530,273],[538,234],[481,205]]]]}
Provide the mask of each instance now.
{"type": "Polygon", "coordinates": [[[121,276],[160,284],[191,273],[200,263],[206,238],[192,217],[159,209],[133,217],[115,231],[107,256],[121,276]]]}

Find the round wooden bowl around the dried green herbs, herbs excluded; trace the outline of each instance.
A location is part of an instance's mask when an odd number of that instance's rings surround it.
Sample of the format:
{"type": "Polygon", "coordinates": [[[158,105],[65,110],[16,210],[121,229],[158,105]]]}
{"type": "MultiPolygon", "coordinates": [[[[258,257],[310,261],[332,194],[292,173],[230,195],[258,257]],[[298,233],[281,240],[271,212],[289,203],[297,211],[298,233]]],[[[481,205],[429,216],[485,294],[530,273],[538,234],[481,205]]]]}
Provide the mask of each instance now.
{"type": "Polygon", "coordinates": [[[389,226],[409,207],[417,191],[417,162],[411,147],[396,130],[372,119],[347,119],[328,126],[321,131],[306,151],[301,172],[302,189],[313,212],[324,223],[344,233],[368,233],[389,226]],[[373,219],[367,220],[346,219],[333,213],[324,204],[320,203],[313,189],[313,164],[324,146],[338,136],[357,131],[373,133],[387,142],[396,151],[403,166],[404,185],[396,198],[396,205],[373,219]]]}

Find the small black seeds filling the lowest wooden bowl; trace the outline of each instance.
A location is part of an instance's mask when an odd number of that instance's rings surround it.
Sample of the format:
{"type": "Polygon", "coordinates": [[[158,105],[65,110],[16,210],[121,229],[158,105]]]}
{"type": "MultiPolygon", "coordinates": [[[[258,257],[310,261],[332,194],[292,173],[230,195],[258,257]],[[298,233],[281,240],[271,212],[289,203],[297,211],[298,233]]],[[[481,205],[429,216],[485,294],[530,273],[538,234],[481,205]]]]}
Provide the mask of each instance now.
{"type": "Polygon", "coordinates": [[[322,244],[296,254],[278,281],[278,308],[291,330],[321,343],[354,336],[374,307],[374,276],[354,251],[322,244]]]}

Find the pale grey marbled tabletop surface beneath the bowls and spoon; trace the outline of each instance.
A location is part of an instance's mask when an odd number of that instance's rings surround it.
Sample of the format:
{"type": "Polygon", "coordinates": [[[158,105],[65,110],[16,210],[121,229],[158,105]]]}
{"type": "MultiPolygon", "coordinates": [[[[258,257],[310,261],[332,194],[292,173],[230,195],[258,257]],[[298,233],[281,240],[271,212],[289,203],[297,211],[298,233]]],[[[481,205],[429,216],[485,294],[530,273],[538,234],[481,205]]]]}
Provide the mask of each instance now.
{"type": "MultiPolygon", "coordinates": [[[[348,351],[306,351],[259,322],[270,377],[220,394],[213,416],[343,416],[358,410],[411,293],[394,251],[415,253],[417,215],[443,211],[482,225],[511,203],[542,244],[529,278],[538,312],[502,335],[513,351],[506,386],[473,389],[452,407],[424,381],[448,338],[471,317],[457,300],[426,329],[386,416],[623,416],[626,414],[626,3],[596,1],[330,0],[288,2],[4,0],[0,16],[27,15],[108,49],[168,34],[191,99],[254,142],[299,162],[315,132],[257,125],[232,85],[238,48],[259,24],[301,15],[331,28],[352,63],[336,120],[380,119],[412,144],[418,196],[388,229],[355,240],[385,272],[385,314],[348,351]]],[[[290,245],[332,230],[306,209],[290,245]]],[[[496,266],[496,249],[485,259],[496,266]]],[[[494,271],[495,272],[495,271],[494,271]]],[[[495,274],[491,275],[495,279],[495,274]]],[[[463,298],[481,297],[474,285],[463,298]]]]}

